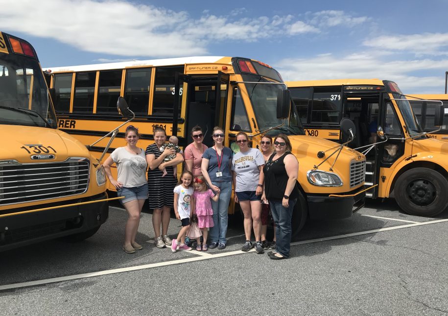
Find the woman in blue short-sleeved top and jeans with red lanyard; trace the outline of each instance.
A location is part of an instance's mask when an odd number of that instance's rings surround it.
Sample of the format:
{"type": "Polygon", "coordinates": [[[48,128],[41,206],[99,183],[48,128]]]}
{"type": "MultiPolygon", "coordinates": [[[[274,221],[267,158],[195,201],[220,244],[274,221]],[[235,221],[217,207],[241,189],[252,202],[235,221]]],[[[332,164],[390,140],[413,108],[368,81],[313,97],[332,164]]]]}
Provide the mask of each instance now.
{"type": "Polygon", "coordinates": [[[210,228],[209,248],[224,249],[226,247],[226,233],[228,223],[228,208],[232,195],[232,150],[224,147],[224,131],[221,127],[213,128],[214,145],[204,151],[202,155],[202,175],[210,189],[219,194],[218,201],[212,201],[213,223],[210,228]]]}

